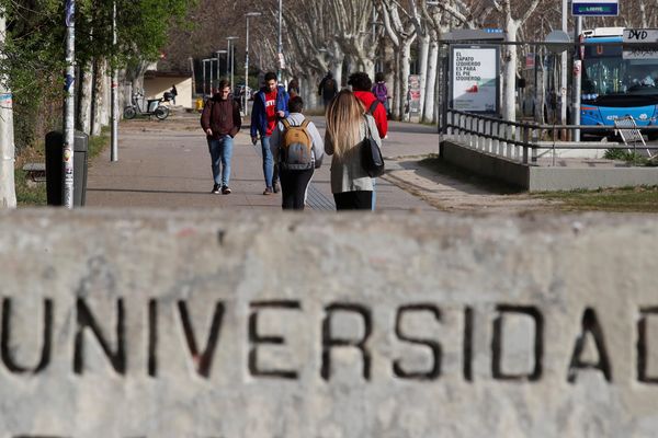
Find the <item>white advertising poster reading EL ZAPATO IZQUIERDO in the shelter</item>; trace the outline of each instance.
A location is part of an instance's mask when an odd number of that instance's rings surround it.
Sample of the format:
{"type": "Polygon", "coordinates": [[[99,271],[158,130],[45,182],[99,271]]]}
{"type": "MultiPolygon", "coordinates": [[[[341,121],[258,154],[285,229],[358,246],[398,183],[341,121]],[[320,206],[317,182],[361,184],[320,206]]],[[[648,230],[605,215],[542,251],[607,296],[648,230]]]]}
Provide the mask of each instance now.
{"type": "Polygon", "coordinates": [[[474,113],[498,113],[497,47],[453,47],[452,107],[474,113]]]}

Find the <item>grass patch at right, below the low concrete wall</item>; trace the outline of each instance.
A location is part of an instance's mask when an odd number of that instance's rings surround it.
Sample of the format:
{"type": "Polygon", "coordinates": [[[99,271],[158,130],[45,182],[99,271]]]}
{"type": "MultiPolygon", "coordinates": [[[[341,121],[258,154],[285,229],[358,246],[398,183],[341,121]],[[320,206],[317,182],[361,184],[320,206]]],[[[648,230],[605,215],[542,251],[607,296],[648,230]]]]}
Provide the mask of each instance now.
{"type": "Polygon", "coordinates": [[[563,210],[658,212],[658,186],[545,192],[530,196],[558,200],[563,210]]]}

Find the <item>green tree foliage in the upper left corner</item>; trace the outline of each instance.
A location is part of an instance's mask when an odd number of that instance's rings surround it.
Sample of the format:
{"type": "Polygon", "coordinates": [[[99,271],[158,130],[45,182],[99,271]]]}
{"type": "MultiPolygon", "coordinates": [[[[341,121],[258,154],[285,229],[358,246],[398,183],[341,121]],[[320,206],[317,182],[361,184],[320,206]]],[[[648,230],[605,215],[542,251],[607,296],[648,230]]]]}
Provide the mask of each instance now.
{"type": "MultiPolygon", "coordinates": [[[[117,48],[113,47],[113,1],[76,1],[76,62],[109,59],[117,68],[155,60],[166,46],[170,25],[182,26],[196,0],[116,0],[117,48]]],[[[65,0],[0,0],[5,8],[5,59],[14,102],[16,150],[34,146],[61,128],[66,26],[65,0]]]]}

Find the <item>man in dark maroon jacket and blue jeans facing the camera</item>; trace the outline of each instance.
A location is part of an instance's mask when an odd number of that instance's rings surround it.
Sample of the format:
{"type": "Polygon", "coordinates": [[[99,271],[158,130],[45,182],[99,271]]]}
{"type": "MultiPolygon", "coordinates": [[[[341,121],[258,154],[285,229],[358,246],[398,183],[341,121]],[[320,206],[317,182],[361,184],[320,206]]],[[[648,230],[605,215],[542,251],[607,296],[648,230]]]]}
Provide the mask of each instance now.
{"type": "Polygon", "coordinates": [[[201,114],[201,127],[206,134],[208,152],[213,169],[213,189],[211,193],[230,194],[230,159],[232,139],[240,130],[242,118],[238,104],[230,99],[230,84],[226,80],[219,82],[217,93],[208,100],[201,114]]]}

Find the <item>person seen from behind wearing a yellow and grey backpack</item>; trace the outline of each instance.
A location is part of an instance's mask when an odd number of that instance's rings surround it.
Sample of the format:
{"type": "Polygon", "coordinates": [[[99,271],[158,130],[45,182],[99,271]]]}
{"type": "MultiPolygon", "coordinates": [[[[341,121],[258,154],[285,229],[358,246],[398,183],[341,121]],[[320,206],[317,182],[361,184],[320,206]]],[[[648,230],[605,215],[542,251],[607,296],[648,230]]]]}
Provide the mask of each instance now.
{"type": "Polygon", "coordinates": [[[302,114],[304,101],[299,96],[288,102],[290,115],[279,120],[270,138],[272,154],[279,162],[281,177],[281,208],[303,210],[306,188],[315,169],[322,164],[324,143],[313,122],[302,114]]]}

